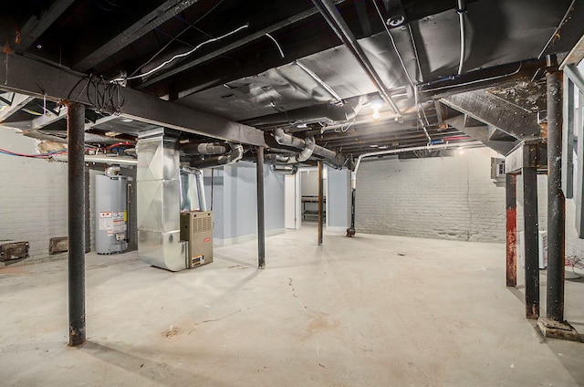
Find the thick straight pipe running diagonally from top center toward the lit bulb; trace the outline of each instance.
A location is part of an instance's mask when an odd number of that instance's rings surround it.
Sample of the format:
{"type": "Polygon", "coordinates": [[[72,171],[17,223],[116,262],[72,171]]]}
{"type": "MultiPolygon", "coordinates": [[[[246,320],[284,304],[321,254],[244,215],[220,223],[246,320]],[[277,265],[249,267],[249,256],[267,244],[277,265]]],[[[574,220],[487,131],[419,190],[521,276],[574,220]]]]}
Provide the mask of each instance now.
{"type": "Polygon", "coordinates": [[[339,10],[335,7],[334,3],[331,0],[312,0],[312,3],[318,9],[318,12],[320,12],[325,18],[328,26],[330,26],[335,34],[337,34],[345,47],[349,49],[349,52],[353,57],[357,59],[360,67],[365,71],[373,85],[378,89],[381,99],[388,104],[394,113],[401,115],[400,109],[395,102],[393,102],[393,99],[391,99],[390,90],[383,84],[379,74],[375,68],[373,68],[373,65],[371,65],[369,58],[365,55],[365,52],[360,47],[357,39],[353,36],[353,33],[350,31],[345,20],[340,16],[339,10]]]}

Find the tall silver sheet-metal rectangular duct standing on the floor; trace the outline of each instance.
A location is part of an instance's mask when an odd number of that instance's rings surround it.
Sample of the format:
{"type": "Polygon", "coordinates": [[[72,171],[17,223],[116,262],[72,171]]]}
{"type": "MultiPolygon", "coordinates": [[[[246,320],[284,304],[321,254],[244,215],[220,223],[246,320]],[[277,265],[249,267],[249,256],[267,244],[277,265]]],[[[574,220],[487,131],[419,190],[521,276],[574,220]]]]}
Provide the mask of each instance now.
{"type": "Polygon", "coordinates": [[[177,139],[163,128],[142,132],[138,153],[138,254],[171,271],[187,268],[181,242],[181,177],[177,139]]]}

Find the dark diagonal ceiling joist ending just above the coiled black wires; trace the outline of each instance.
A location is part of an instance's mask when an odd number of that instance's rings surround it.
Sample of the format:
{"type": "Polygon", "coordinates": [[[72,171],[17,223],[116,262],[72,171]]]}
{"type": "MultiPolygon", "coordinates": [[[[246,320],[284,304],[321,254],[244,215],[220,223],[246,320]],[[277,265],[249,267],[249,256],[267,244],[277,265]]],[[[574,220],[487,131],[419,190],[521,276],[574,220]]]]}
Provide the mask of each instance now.
{"type": "Polygon", "coordinates": [[[130,45],[136,39],[148,34],[154,28],[161,26],[170,18],[177,16],[189,6],[199,0],[167,0],[162,5],[153,9],[146,16],[132,24],[103,46],[95,49],[88,57],[78,61],[73,67],[79,71],[87,71],[99,62],[109,58],[112,54],[120,51],[121,48],[130,45]]]}

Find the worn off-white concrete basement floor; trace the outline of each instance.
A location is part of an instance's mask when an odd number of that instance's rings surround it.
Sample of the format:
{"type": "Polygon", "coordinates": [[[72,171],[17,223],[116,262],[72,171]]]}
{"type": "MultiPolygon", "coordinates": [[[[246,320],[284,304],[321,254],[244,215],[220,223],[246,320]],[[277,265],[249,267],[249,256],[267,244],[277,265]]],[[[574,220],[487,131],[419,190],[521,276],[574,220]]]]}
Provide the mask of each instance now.
{"type": "MultiPolygon", "coordinates": [[[[67,346],[66,262],[0,269],[2,386],[577,386],[584,344],[543,340],[505,246],[306,227],[181,273],[87,256],[88,342],[67,346]]],[[[542,277],[542,280],[544,277],[542,277]]],[[[584,331],[584,283],[567,318],[584,331]]]]}

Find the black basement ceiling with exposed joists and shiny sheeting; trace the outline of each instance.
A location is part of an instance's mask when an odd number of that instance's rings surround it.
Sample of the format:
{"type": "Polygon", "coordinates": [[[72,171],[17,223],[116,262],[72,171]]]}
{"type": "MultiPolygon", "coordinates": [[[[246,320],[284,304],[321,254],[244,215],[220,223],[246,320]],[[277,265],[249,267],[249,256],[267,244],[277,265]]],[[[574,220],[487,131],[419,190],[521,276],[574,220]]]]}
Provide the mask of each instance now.
{"type": "MultiPolygon", "coordinates": [[[[358,155],[379,147],[472,141],[464,127],[446,122],[461,112],[436,102],[453,93],[527,82],[542,95],[537,86],[542,70],[584,33],[582,3],[20,0],[3,6],[0,38],[5,55],[34,58],[104,82],[118,78],[127,88],[183,107],[266,131],[315,135],[319,145],[358,155]],[[336,5],[400,115],[385,103],[381,117],[371,119],[371,106],[382,101],[380,90],[318,12],[319,3],[336,5]],[[459,3],[464,5],[461,74],[459,3]],[[403,12],[405,23],[388,31],[384,21],[395,9],[403,12]]],[[[42,103],[34,99],[27,110],[42,113],[42,103]]],[[[20,111],[6,121],[33,120],[26,114],[20,111]]],[[[43,129],[62,131],[62,125],[56,120],[43,129]]]]}

